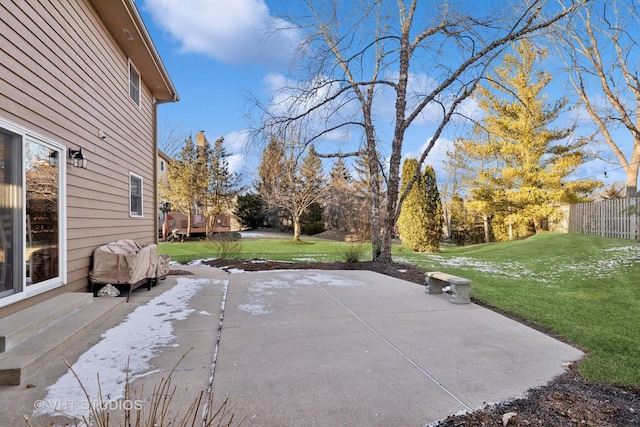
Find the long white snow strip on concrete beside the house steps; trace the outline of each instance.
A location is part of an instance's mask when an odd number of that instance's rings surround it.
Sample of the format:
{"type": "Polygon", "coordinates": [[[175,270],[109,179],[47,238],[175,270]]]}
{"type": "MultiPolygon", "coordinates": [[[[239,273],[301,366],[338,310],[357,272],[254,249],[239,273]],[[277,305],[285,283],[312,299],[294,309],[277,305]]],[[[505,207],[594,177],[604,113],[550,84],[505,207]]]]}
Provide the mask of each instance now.
{"type": "MultiPolygon", "coordinates": [[[[150,361],[161,348],[178,345],[173,324],[195,311],[189,308],[191,298],[202,287],[221,282],[180,277],[174,287],[137,307],[119,325],[106,331],[72,366],[92,403],[99,398],[98,386],[103,398],[109,396],[110,401],[124,398],[127,363],[130,381],[148,375],[150,361]]],[[[78,418],[89,415],[89,402],[70,370],[46,391],[44,402],[48,405],[39,407],[36,415],[59,415],[59,412],[78,418]]]]}

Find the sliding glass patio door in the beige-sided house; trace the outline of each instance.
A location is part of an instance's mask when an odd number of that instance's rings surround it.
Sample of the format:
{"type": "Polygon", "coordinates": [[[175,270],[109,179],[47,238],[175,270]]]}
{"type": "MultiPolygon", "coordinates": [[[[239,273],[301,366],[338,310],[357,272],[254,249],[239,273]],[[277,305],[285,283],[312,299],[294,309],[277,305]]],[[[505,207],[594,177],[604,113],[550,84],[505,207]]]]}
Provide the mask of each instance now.
{"type": "Polygon", "coordinates": [[[62,285],[63,148],[0,120],[0,306],[62,285]]]}

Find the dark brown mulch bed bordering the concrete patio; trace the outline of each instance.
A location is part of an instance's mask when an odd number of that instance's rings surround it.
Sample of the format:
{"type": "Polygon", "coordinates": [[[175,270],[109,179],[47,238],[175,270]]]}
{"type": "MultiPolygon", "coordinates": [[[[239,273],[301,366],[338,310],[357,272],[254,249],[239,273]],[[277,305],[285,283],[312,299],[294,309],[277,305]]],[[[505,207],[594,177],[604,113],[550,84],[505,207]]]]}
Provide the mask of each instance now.
{"type": "MultiPolygon", "coordinates": [[[[424,270],[412,265],[376,262],[289,263],[213,260],[208,261],[207,264],[222,269],[233,268],[244,271],[370,270],[418,284],[424,284],[425,273],[424,270]]],[[[523,321],[523,319],[516,320],[523,321]]],[[[450,416],[432,426],[640,426],[640,387],[590,383],[580,375],[576,366],[572,366],[548,385],[530,390],[525,397],[488,405],[472,413],[450,416]],[[505,414],[510,413],[516,415],[505,417],[505,414]]]]}

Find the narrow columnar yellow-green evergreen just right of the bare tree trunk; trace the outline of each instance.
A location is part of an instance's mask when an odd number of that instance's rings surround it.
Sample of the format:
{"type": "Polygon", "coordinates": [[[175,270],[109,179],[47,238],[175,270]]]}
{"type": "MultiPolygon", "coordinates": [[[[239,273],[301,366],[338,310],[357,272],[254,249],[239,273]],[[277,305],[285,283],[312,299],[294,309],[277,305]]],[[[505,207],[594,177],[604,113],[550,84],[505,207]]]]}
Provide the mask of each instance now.
{"type": "MultiPolygon", "coordinates": [[[[402,166],[400,191],[403,192],[418,170],[416,159],[406,159],[402,166]]],[[[413,183],[398,218],[402,243],[417,252],[438,252],[442,238],[442,204],[435,171],[426,166],[413,183]]]]}

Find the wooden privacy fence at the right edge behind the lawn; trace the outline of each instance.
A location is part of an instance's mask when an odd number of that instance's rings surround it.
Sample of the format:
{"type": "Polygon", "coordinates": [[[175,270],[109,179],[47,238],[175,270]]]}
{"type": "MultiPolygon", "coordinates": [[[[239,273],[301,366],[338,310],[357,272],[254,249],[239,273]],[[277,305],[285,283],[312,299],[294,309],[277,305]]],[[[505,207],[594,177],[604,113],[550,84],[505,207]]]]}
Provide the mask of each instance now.
{"type": "Polygon", "coordinates": [[[640,198],[571,205],[569,233],[638,240],[640,239],[640,198]]]}

